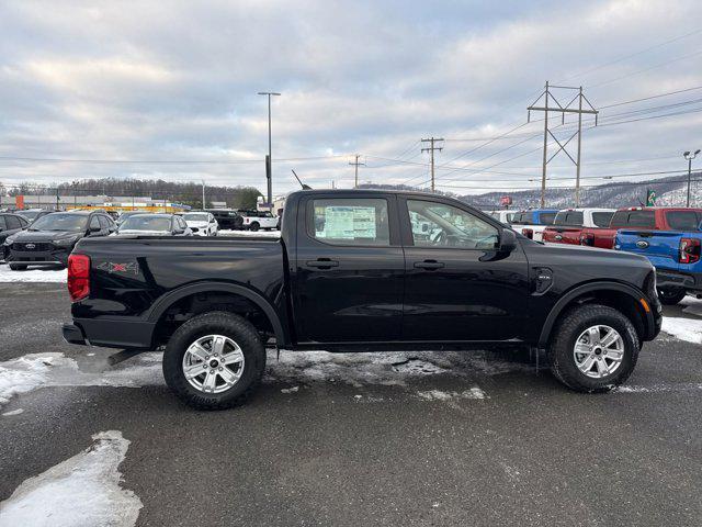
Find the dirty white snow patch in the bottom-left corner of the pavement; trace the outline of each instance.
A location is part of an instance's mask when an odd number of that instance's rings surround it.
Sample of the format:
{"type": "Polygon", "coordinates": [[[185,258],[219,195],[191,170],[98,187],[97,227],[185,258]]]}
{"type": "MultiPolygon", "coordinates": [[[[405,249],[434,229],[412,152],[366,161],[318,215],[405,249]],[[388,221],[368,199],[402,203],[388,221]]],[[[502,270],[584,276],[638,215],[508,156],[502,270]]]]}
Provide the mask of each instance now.
{"type": "Polygon", "coordinates": [[[86,450],[25,480],[0,503],[0,527],[135,525],[144,505],[120,486],[117,470],[129,441],[118,430],[101,431],[92,439],[86,450]]]}

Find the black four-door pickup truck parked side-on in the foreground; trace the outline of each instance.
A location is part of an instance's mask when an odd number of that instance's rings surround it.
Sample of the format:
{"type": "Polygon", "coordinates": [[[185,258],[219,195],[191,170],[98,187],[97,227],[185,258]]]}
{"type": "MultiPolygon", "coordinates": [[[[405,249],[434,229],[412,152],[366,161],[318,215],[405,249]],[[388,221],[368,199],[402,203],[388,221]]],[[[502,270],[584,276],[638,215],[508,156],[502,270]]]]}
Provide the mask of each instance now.
{"type": "Polygon", "coordinates": [[[601,392],[660,330],[642,256],[528,239],[433,194],[304,190],[281,238],[84,238],[70,256],[64,337],[165,346],[163,374],[197,408],[246,400],[279,349],[524,346],[601,392]]]}

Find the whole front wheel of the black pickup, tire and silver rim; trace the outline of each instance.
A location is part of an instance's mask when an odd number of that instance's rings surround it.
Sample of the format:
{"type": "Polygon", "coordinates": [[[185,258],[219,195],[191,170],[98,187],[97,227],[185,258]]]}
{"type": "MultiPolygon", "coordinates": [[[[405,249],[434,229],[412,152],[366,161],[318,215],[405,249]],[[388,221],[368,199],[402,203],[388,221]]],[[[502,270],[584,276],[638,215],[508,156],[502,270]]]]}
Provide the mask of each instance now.
{"type": "Polygon", "coordinates": [[[607,392],[629,379],[639,341],[631,321],[607,305],[586,304],[566,313],[548,347],[553,374],[578,392],[607,392]]]}

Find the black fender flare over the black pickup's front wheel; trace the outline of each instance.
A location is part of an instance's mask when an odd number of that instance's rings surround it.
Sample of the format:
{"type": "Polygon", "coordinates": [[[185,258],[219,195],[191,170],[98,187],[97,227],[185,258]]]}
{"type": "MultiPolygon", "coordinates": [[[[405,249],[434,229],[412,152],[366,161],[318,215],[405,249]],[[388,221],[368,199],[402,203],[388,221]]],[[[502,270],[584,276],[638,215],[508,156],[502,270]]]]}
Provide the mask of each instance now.
{"type": "Polygon", "coordinates": [[[547,346],[556,322],[567,309],[575,304],[592,303],[598,300],[603,300],[605,305],[622,311],[638,332],[639,339],[646,340],[646,336],[654,333],[655,322],[650,312],[653,306],[646,311],[641,303],[642,299],[646,299],[646,295],[641,290],[621,282],[597,281],[578,285],[565,293],[551,309],[541,329],[539,347],[547,346]],[[612,305],[613,299],[622,301],[622,304],[612,305]]]}

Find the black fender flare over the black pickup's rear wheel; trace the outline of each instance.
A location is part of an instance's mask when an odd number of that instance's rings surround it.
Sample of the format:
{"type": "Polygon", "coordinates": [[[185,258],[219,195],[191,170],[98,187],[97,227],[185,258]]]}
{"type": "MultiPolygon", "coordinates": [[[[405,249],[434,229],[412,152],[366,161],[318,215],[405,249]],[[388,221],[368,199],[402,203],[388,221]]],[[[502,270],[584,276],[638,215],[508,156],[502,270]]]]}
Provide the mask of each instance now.
{"type": "Polygon", "coordinates": [[[166,313],[166,311],[172,306],[176,302],[185,296],[190,296],[196,293],[205,293],[205,292],[226,292],[241,295],[251,302],[253,302],[258,307],[263,311],[269,322],[271,323],[271,327],[273,328],[273,333],[275,334],[276,346],[281,347],[287,343],[286,333],[284,330],[281,318],[275,311],[275,307],[265,300],[261,294],[256,291],[246,288],[244,285],[238,285],[236,283],[227,283],[227,282],[199,282],[192,283],[190,285],[183,285],[173,291],[169,291],[168,293],[160,296],[151,306],[151,309],[147,312],[146,318],[148,322],[156,324],[161,315],[166,313]]]}

